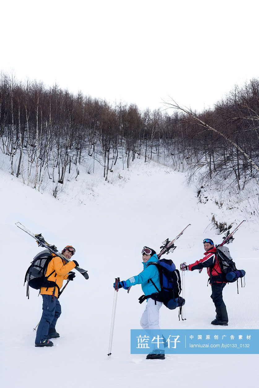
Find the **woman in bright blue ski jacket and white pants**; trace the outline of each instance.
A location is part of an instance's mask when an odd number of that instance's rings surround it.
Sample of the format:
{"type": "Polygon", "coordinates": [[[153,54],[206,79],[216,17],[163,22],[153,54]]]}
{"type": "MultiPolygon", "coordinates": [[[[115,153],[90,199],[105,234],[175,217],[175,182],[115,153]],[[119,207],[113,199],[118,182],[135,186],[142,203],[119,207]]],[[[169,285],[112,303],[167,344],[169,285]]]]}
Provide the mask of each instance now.
{"type": "MultiPolygon", "coordinates": [[[[128,280],[123,280],[118,283],[118,288],[129,289],[130,286],[141,284],[141,288],[145,296],[157,293],[160,291],[159,272],[156,265],[149,265],[152,262],[158,263],[158,257],[154,249],[144,246],[142,249],[143,271],[136,276],[130,277],[128,280]],[[153,284],[152,282],[155,284],[153,284]],[[156,286],[156,287],[155,287],[156,286]]],[[[115,283],[113,284],[115,288],[115,283]]],[[[159,309],[162,302],[158,302],[151,298],[147,299],[146,308],[142,314],[140,324],[143,329],[160,329],[159,327],[159,309]]],[[[147,359],[164,359],[164,352],[158,353],[156,350],[147,355],[147,359]]]]}

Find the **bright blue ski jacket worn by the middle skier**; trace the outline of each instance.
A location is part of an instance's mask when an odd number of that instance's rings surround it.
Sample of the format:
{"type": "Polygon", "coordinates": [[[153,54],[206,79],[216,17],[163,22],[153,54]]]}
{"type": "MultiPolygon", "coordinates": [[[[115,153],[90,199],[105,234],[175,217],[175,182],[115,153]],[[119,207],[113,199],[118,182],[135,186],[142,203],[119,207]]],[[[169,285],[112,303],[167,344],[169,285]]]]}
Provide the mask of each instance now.
{"type": "Polygon", "coordinates": [[[158,291],[155,286],[153,286],[151,281],[148,282],[149,279],[152,279],[159,291],[161,290],[159,281],[159,271],[155,265],[148,265],[151,262],[158,263],[158,257],[156,254],[151,256],[151,258],[146,263],[142,262],[144,270],[140,274],[132,276],[130,277],[130,279],[126,280],[127,287],[135,286],[136,284],[141,284],[141,288],[145,295],[154,294],[158,291]]]}

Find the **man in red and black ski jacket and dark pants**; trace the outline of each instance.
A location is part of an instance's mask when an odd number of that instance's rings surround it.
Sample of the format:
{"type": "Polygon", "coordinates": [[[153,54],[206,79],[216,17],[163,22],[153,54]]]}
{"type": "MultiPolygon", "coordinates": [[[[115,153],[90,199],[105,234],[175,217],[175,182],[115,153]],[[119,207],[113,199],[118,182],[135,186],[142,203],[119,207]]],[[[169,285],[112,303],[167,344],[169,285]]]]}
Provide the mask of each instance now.
{"type": "Polygon", "coordinates": [[[212,289],[210,298],[212,298],[216,307],[216,319],[211,324],[228,326],[228,313],[222,298],[222,290],[226,286],[226,282],[223,280],[219,260],[216,256],[216,247],[211,239],[204,239],[203,244],[205,249],[204,257],[193,264],[181,264],[180,268],[183,271],[207,268],[212,289]]]}

